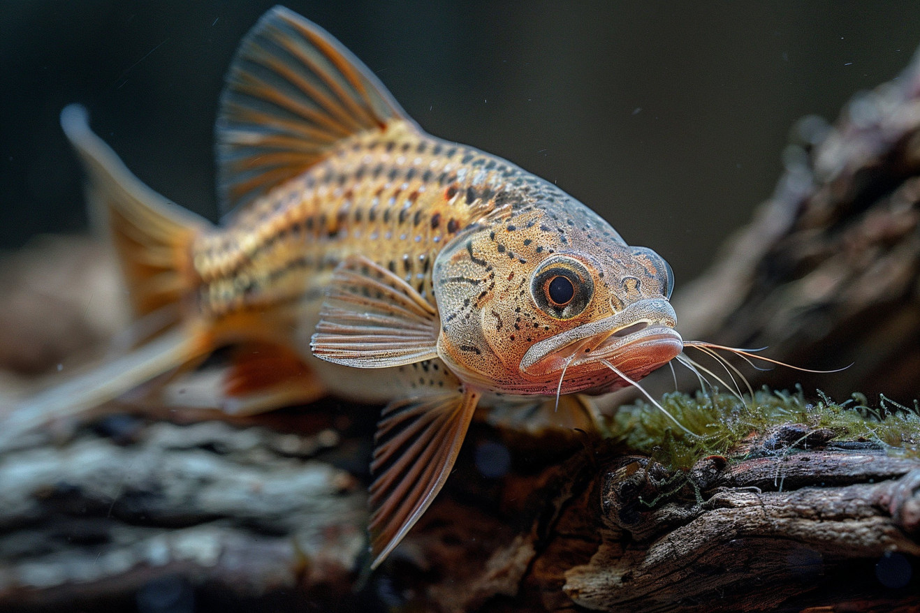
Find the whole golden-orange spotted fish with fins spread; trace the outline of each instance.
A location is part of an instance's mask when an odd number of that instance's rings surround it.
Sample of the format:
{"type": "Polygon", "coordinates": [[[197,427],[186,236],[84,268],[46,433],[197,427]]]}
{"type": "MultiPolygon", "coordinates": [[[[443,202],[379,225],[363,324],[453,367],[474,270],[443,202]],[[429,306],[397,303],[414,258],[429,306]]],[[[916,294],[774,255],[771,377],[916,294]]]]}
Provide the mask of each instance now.
{"type": "Polygon", "coordinates": [[[222,346],[235,362],[215,403],[229,412],[327,393],[388,402],[375,566],[441,489],[477,404],[609,392],[627,385],[620,373],[641,379],[683,349],[659,255],[543,179],[421,131],[287,9],[259,21],[227,77],[217,150],[234,212],[221,227],[141,184],[82,108],[62,122],[138,321],[159,327],[97,374],[23,403],[7,433],[222,346]]]}

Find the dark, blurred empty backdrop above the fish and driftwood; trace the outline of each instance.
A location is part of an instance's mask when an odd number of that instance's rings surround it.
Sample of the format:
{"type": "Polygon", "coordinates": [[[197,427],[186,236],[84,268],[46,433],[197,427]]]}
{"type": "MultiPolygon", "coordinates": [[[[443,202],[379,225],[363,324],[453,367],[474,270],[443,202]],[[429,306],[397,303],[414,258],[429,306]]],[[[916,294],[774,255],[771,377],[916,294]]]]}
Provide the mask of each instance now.
{"type": "MultiPolygon", "coordinates": [[[[216,219],[212,126],[227,64],[270,0],[32,0],[0,9],[0,247],[77,231],[58,113],[168,198],[216,219]]],[[[599,210],[678,283],[747,221],[788,131],[834,119],[920,43],[920,3],[289,2],[431,133],[498,153],[599,210]]]]}

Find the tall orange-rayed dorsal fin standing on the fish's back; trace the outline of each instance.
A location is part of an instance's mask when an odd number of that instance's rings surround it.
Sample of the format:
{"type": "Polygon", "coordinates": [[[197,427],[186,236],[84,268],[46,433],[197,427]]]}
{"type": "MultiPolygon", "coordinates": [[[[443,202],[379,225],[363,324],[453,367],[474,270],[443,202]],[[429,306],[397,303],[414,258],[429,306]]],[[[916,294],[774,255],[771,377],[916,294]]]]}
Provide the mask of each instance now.
{"type": "Polygon", "coordinates": [[[322,160],[336,142],[408,119],[383,84],[315,23],[275,6],[236,51],[217,118],[224,212],[322,160]]]}

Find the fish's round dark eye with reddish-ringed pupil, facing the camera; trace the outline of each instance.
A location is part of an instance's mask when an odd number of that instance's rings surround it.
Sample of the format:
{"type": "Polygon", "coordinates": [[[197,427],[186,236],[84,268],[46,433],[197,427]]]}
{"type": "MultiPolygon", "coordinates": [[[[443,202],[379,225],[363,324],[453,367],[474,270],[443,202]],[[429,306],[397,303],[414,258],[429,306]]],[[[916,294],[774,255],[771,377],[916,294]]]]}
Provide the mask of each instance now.
{"type": "Polygon", "coordinates": [[[541,311],[556,319],[571,319],[588,306],[594,282],[581,262],[557,255],[534,271],[530,291],[541,311]]]}

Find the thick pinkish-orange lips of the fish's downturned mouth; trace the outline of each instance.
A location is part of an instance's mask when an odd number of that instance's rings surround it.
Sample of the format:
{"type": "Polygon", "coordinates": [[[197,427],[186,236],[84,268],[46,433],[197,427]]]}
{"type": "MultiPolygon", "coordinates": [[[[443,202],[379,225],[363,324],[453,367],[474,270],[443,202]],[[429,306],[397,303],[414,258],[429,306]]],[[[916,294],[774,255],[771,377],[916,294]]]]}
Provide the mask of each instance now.
{"type": "Polygon", "coordinates": [[[677,317],[668,301],[638,301],[596,322],[582,324],[536,343],[521,360],[521,370],[532,377],[557,375],[562,369],[596,365],[605,359],[625,372],[644,377],[671,361],[684,349],[674,330],[677,317]]]}

